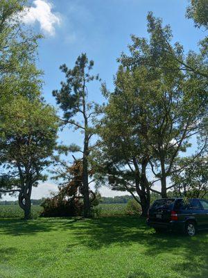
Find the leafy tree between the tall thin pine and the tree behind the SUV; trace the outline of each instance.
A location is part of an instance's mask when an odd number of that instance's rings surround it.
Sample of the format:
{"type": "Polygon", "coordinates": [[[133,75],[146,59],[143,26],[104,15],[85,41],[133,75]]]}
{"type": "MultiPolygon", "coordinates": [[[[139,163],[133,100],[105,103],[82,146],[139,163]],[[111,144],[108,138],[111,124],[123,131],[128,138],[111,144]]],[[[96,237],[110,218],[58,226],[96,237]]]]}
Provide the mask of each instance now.
{"type": "MultiPolygon", "coordinates": [[[[149,122],[142,105],[147,96],[146,81],[143,69],[130,71],[119,67],[115,90],[107,95],[105,116],[98,129],[101,140],[95,154],[96,171],[107,177],[105,183],[113,190],[128,191],[141,205],[144,216],[150,206],[147,166],[151,156],[149,122]]],[[[102,179],[98,177],[98,181],[102,179]]]]}

